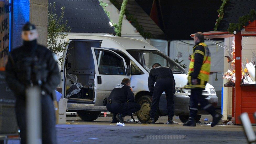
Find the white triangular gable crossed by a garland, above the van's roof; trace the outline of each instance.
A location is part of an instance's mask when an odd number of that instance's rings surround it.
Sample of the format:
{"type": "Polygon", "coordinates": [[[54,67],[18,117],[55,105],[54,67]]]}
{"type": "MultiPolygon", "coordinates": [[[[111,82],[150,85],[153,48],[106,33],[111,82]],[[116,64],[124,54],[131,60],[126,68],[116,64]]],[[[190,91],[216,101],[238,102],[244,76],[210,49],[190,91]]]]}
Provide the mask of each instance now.
{"type": "MultiPolygon", "coordinates": [[[[108,6],[106,6],[105,9],[110,12],[110,18],[113,20],[113,23],[118,23],[119,14],[120,14],[119,10],[109,0],[100,0],[100,1],[106,2],[108,4],[108,6]]],[[[126,16],[124,15],[121,35],[124,37],[135,38],[135,39],[142,40],[144,42],[149,43],[149,41],[146,41],[140,35],[140,33],[137,32],[136,28],[132,26],[132,24],[129,23],[129,21],[125,17],[126,16]]]]}

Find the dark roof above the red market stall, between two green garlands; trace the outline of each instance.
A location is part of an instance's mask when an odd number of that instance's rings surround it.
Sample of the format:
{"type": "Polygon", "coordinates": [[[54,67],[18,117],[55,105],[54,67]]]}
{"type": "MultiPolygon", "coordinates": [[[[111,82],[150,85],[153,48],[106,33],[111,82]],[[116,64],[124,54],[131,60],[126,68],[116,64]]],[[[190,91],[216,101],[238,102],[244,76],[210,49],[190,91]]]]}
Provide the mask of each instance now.
{"type": "Polygon", "coordinates": [[[249,14],[251,9],[256,9],[256,0],[229,0],[217,31],[227,31],[230,23],[238,23],[238,18],[249,14]]]}

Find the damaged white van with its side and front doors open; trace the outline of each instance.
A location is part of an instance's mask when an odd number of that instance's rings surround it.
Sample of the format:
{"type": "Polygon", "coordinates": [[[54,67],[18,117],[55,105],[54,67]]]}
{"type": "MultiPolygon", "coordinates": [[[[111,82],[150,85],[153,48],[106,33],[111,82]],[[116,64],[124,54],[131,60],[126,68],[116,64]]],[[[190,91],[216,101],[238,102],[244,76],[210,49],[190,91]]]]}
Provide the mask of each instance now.
{"type": "MultiPolygon", "coordinates": [[[[131,38],[114,36],[84,36],[68,35],[68,46],[63,54],[61,65],[62,94],[68,98],[67,109],[77,112],[84,121],[96,120],[101,111],[107,111],[103,106],[113,88],[120,84],[123,78],[131,79],[131,88],[135,101],[141,105],[137,112],[138,120],[145,123],[149,120],[151,95],[148,90],[148,74],[154,63],[170,67],[174,73],[176,93],[174,97],[175,115],[182,122],[188,120],[190,90],[183,87],[187,83],[187,71],[174,60],[155,47],[131,38]],[[77,76],[83,86],[79,95],[67,97],[66,91],[73,85],[69,75],[77,76]]],[[[214,106],[218,103],[214,87],[206,85],[203,96],[214,106]]],[[[165,93],[162,94],[156,120],[167,115],[165,93]]],[[[201,115],[207,114],[200,110],[201,115]]]]}

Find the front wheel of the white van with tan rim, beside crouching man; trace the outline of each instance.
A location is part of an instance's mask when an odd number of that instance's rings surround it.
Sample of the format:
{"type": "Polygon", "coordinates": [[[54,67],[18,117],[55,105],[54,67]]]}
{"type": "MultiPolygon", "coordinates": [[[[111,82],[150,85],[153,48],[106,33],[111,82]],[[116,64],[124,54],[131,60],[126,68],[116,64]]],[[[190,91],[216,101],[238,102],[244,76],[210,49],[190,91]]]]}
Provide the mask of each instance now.
{"type": "MultiPolygon", "coordinates": [[[[152,99],[151,99],[151,96],[149,95],[143,95],[137,101],[137,103],[140,104],[141,108],[139,111],[137,111],[136,115],[138,120],[141,123],[146,123],[150,119],[149,111],[150,111],[151,102],[152,102],[152,99]]],[[[157,110],[157,113],[155,116],[155,122],[158,120],[158,118],[159,118],[159,109],[157,110]]]]}

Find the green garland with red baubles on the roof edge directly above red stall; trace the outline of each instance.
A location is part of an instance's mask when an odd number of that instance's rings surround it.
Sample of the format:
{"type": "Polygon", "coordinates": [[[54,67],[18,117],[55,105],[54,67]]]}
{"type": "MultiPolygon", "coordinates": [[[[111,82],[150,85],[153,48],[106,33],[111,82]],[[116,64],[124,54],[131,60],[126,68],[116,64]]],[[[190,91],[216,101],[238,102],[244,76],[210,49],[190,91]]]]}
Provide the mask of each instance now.
{"type": "Polygon", "coordinates": [[[227,29],[230,33],[233,33],[235,30],[241,30],[244,28],[248,23],[254,21],[256,19],[256,10],[252,9],[250,10],[249,14],[246,14],[242,17],[238,18],[238,23],[230,23],[229,28],[227,29]],[[250,21],[252,20],[252,21],[250,21]]]}

